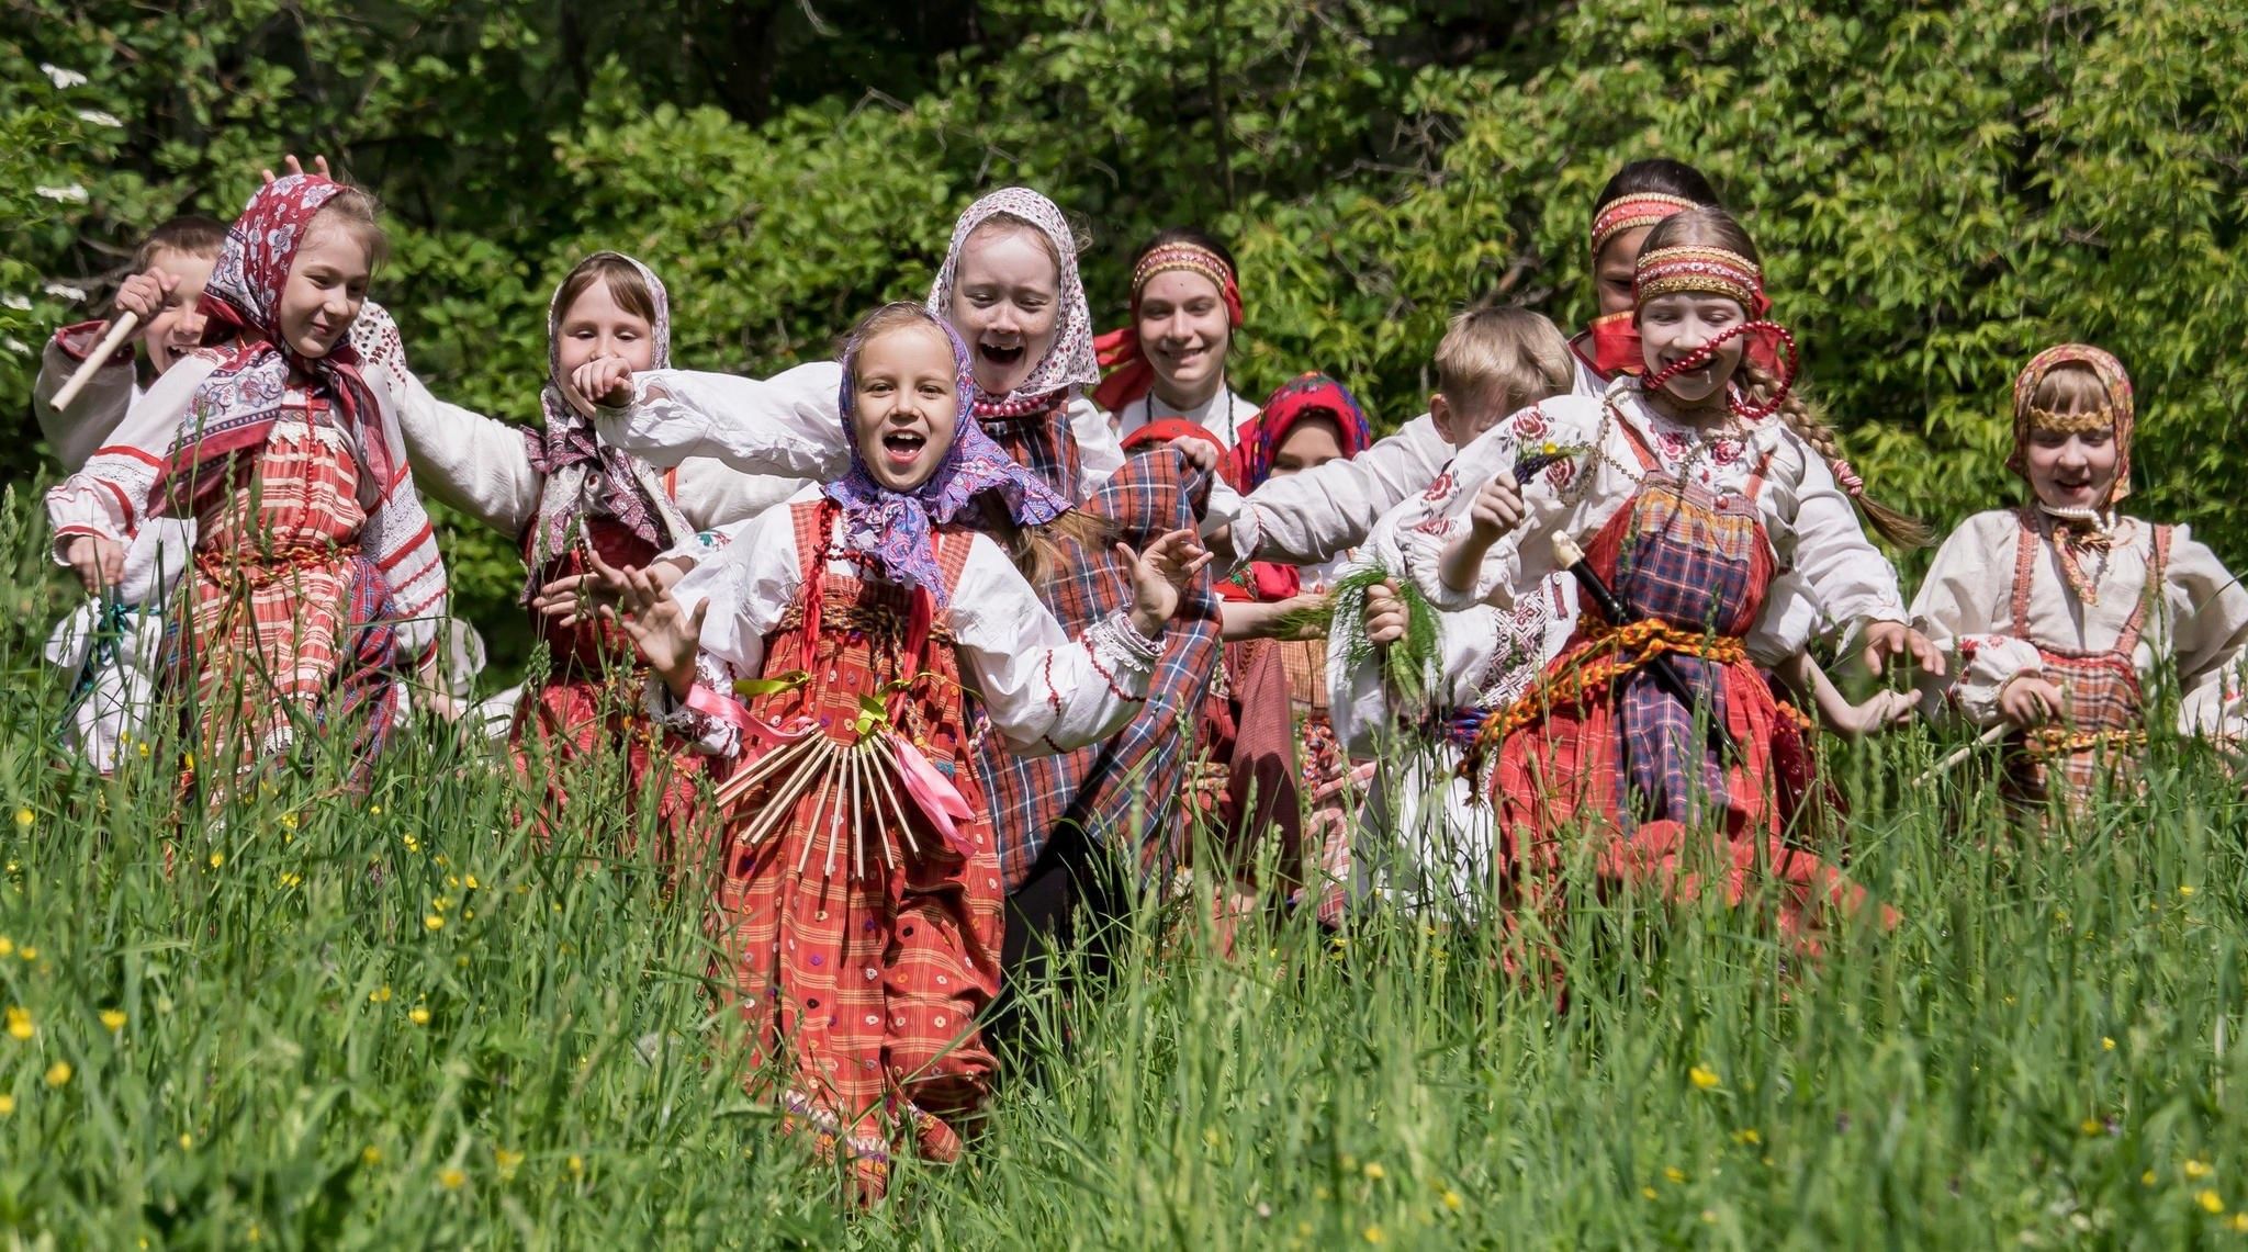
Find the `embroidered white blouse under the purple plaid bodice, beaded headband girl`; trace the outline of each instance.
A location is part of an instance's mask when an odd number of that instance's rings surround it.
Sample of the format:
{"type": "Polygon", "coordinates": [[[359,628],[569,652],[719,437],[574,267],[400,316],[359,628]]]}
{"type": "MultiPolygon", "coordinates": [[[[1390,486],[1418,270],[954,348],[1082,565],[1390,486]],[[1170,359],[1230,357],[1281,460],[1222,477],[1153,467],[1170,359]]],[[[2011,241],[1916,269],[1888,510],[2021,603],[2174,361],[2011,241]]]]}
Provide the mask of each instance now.
{"type": "Polygon", "coordinates": [[[1556,573],[1556,533],[1589,544],[1639,490],[1639,456],[1625,425],[1639,432],[1666,470],[1711,492],[1744,492],[1762,465],[1756,510],[1778,571],[1794,578],[1776,578],[1765,598],[1762,618],[1747,641],[1758,663],[1774,665],[1801,650],[1812,623],[1859,629],[1875,620],[1906,620],[1895,566],[1866,537],[1823,456],[1778,418],[1706,438],[1650,411],[1637,382],[1612,389],[1610,400],[1556,396],[1470,443],[1445,479],[1430,488],[1441,492],[1441,512],[1405,530],[1405,560],[1421,591],[1439,607],[1463,609],[1475,602],[1511,607],[1517,596],[1538,589],[1556,573]],[[1614,414],[1603,416],[1610,405],[1614,414]],[[1486,553],[1472,589],[1445,587],[1439,560],[1452,535],[1466,533],[1477,490],[1497,474],[1513,474],[1524,445],[1538,450],[1549,443],[1565,456],[1522,488],[1522,524],[1486,553]]]}

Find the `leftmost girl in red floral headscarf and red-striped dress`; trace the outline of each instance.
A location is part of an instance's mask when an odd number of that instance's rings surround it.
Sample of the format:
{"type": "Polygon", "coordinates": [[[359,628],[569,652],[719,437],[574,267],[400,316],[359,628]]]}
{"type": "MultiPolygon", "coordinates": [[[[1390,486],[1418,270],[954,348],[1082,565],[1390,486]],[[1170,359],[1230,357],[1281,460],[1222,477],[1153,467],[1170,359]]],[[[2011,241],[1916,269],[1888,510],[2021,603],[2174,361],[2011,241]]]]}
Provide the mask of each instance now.
{"type": "Polygon", "coordinates": [[[202,346],[47,492],[56,557],[112,582],[151,515],[196,519],[169,659],[200,760],[265,764],[351,715],[353,782],[438,659],[445,564],[407,479],[396,333],[355,335],[384,247],[366,193],[290,175],[252,196],[202,292],[202,346]]]}

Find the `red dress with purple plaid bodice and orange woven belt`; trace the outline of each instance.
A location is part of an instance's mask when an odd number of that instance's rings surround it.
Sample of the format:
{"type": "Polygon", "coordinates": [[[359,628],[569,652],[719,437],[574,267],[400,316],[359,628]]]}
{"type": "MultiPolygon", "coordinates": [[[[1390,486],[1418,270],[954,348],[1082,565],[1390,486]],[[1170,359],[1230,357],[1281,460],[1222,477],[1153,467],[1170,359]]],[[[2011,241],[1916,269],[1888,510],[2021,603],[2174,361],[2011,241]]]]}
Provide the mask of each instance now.
{"type": "Polygon", "coordinates": [[[1744,495],[1713,497],[1679,483],[1625,432],[1643,479],[1585,560],[1630,614],[1670,627],[1679,650],[1664,656],[1735,746],[1720,755],[1715,737],[1697,731],[1695,708],[1639,665],[1605,668],[1619,659],[1614,632],[1587,611],[1540,686],[1495,719],[1508,728],[1493,773],[1502,881],[1517,910],[1556,922],[1567,843],[1583,832],[1603,886],[1648,883],[1684,901],[1715,877],[1738,906],[1769,883],[1783,935],[1816,949],[1821,913],[1857,908],[1864,890],[1783,841],[1792,814],[1780,805],[1774,744],[1794,722],[1740,647],[1774,578],[1756,512],[1762,472],[1744,495]]]}

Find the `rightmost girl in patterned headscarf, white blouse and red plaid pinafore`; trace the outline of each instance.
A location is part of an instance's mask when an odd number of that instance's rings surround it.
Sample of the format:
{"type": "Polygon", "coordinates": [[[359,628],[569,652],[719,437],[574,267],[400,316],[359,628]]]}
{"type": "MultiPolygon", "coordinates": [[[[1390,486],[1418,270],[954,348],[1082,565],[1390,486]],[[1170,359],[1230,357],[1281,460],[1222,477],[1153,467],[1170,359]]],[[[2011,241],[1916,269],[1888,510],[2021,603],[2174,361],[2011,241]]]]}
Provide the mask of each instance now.
{"type": "Polygon", "coordinates": [[[2147,740],[2147,683],[2178,683],[2181,735],[2239,737],[2248,591],[2185,526],[2124,517],[2136,409],[2122,362],[2046,348],[2014,380],[2021,508],[1978,512],[1936,553],[1913,623],[1956,661],[1945,699],[2007,726],[2005,791],[2082,809],[2127,780],[2147,740]],[[1994,578],[1994,571],[1998,573],[1994,578]]]}

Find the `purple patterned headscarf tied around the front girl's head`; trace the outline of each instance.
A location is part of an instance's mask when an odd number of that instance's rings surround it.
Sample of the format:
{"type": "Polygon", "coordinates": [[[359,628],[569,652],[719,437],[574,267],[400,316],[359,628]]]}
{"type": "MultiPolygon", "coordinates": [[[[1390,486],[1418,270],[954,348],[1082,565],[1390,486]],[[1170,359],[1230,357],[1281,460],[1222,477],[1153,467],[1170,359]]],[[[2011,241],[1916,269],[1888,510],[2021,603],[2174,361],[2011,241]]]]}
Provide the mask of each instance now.
{"type": "MultiPolygon", "coordinates": [[[[913,306],[906,306],[913,308],[913,306]]],[[[895,492],[874,481],[859,456],[859,432],[852,427],[859,351],[854,339],[843,348],[843,384],[836,411],[843,414],[843,441],[850,445],[850,472],[821,492],[843,506],[843,544],[865,553],[890,582],[928,591],[937,609],[951,600],[944,571],[937,569],[933,528],[960,517],[982,492],[998,492],[1016,526],[1045,526],[1070,508],[1036,474],[1014,463],[991,443],[971,409],[976,396],[973,362],[960,333],[937,312],[928,321],[944,330],[953,346],[953,382],[960,389],[960,425],[953,445],[944,450],[937,472],[910,492],[895,492]]],[[[969,517],[973,521],[973,517],[969,517]]]]}

